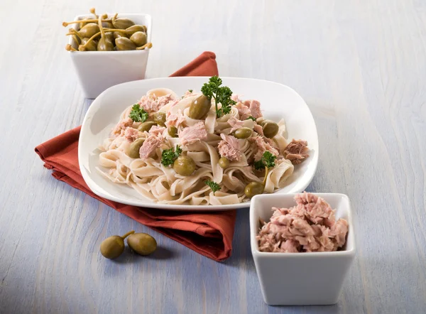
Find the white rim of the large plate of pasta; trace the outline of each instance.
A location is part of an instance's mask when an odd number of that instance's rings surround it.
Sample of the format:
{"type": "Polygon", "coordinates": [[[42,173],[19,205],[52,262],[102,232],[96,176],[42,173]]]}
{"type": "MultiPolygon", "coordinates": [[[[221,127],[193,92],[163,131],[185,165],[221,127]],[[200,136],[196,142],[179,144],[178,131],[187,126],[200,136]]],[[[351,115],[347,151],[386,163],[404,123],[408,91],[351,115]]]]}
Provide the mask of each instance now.
{"type": "MultiPolygon", "coordinates": [[[[153,78],[153,79],[149,79],[150,81],[155,81],[155,80],[164,80],[165,78],[167,78],[168,80],[185,80],[185,79],[190,79],[192,77],[158,77],[158,78],[153,78]]],[[[204,78],[206,80],[209,79],[209,77],[200,77],[200,78],[204,78]]],[[[272,83],[275,85],[282,85],[285,88],[287,88],[288,90],[290,90],[290,92],[292,92],[293,94],[295,94],[296,97],[300,98],[301,102],[303,104],[305,104],[305,107],[307,108],[307,112],[309,112],[310,114],[310,119],[312,119],[312,124],[313,126],[315,126],[315,130],[316,130],[316,142],[317,142],[317,148],[315,149],[316,153],[312,158],[311,163],[313,163],[313,168],[312,171],[310,173],[309,178],[307,178],[307,180],[305,181],[305,184],[301,186],[301,188],[299,188],[298,190],[295,191],[295,193],[300,193],[303,190],[305,190],[305,188],[307,188],[307,186],[311,183],[312,178],[314,177],[316,171],[317,171],[317,166],[318,166],[318,158],[319,158],[319,153],[320,153],[320,145],[318,142],[318,132],[317,132],[317,126],[315,124],[315,119],[312,116],[312,112],[310,111],[309,107],[307,106],[306,102],[304,99],[302,99],[302,97],[297,94],[297,92],[295,92],[295,90],[293,90],[293,88],[288,87],[287,85],[283,85],[280,84],[278,82],[273,82],[273,81],[268,81],[268,80],[258,80],[258,79],[252,79],[252,78],[245,78],[245,77],[222,77],[222,79],[224,80],[232,80],[232,79],[238,79],[238,80],[255,80],[255,81],[259,81],[259,82],[268,82],[268,83],[272,83]]],[[[147,81],[147,80],[141,80],[141,81],[147,81]]],[[[133,82],[137,82],[137,81],[133,81],[133,82]]],[[[109,87],[107,90],[104,90],[104,92],[102,92],[101,94],[99,94],[99,96],[97,98],[102,98],[104,96],[104,94],[106,94],[110,89],[119,87],[120,85],[124,85],[124,84],[128,84],[129,82],[124,82],[118,85],[114,85],[112,87],[109,87]]],[[[96,99],[94,100],[94,102],[96,102],[96,99]]],[[[94,112],[94,106],[93,104],[89,107],[89,109],[87,110],[86,114],[84,115],[84,119],[83,119],[83,123],[82,123],[82,129],[80,131],[80,134],[85,134],[85,129],[87,127],[89,127],[89,124],[87,123],[87,121],[89,121],[89,119],[92,119],[92,115],[94,112]]],[[[123,200],[119,197],[115,197],[114,195],[107,195],[105,193],[103,193],[101,190],[98,189],[98,185],[96,183],[94,183],[92,181],[92,179],[90,178],[89,174],[87,173],[86,168],[84,168],[84,166],[82,166],[82,163],[80,161],[82,161],[82,141],[79,141],[79,145],[78,145],[78,159],[79,159],[79,166],[80,166],[80,172],[82,173],[82,177],[84,179],[84,181],[86,182],[86,184],[89,186],[90,190],[92,190],[92,192],[100,197],[104,197],[107,200],[112,200],[114,202],[119,202],[122,204],[126,204],[126,205],[133,205],[133,206],[138,206],[138,207],[145,207],[145,208],[158,208],[158,209],[163,209],[163,210],[179,210],[179,211],[223,211],[223,210],[236,210],[236,209],[240,209],[240,208],[249,208],[250,207],[250,202],[243,202],[243,203],[239,203],[239,204],[231,204],[231,205],[188,205],[188,204],[184,204],[184,205],[173,205],[173,204],[158,204],[155,202],[152,203],[147,203],[147,204],[141,204],[139,202],[133,202],[132,200],[123,200]]],[[[275,194],[280,194],[279,193],[280,190],[275,191],[272,195],[275,194]]],[[[281,194],[281,195],[285,195],[285,194],[281,194]]]]}

